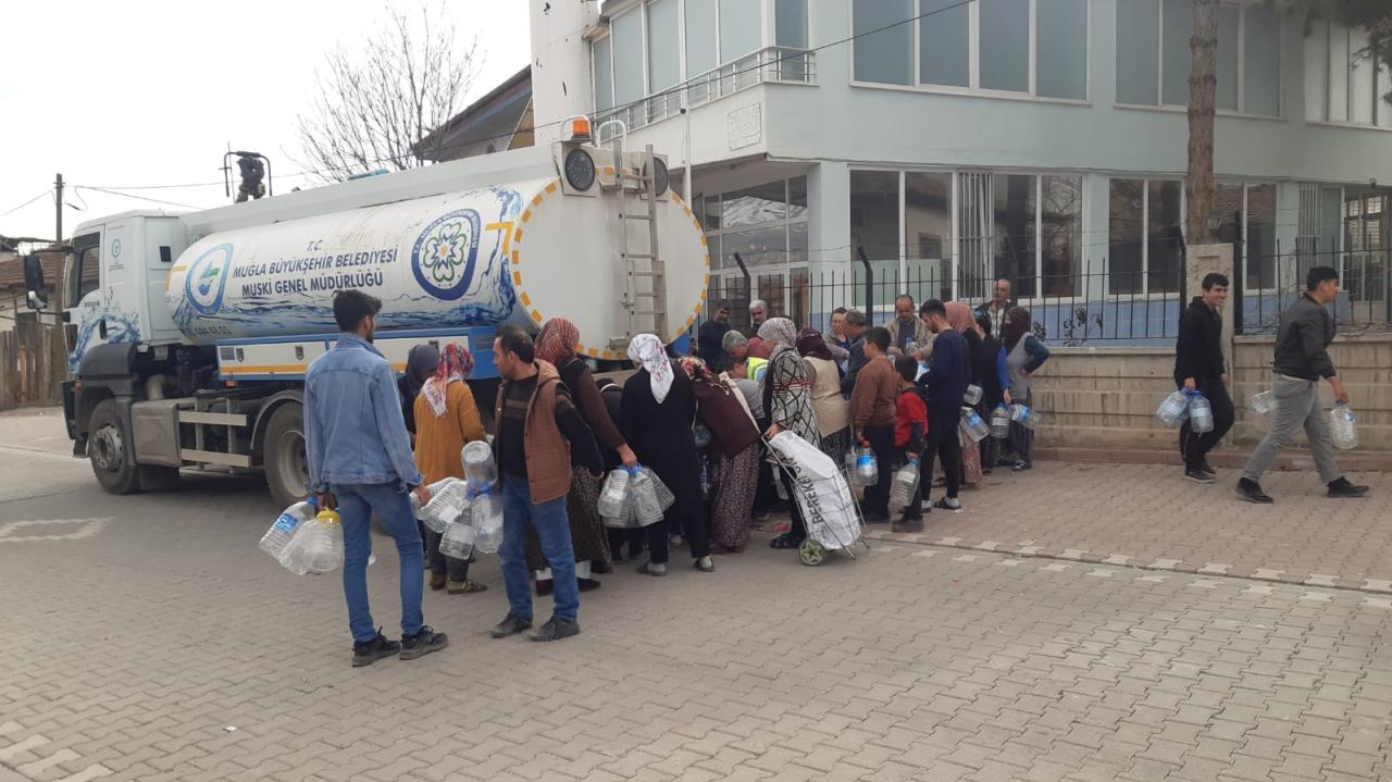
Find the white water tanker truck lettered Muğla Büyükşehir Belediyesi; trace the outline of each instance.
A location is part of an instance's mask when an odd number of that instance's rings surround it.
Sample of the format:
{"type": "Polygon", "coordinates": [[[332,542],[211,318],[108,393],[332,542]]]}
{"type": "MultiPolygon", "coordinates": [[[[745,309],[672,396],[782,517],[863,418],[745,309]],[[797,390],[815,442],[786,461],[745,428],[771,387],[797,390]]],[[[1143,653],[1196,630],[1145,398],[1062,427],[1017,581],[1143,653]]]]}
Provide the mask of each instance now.
{"type": "Polygon", "coordinates": [[[262,472],[277,502],[302,497],[305,370],[337,340],[347,288],[381,299],[376,345],[397,372],[415,345],[466,345],[486,406],[503,324],[565,316],[601,365],[635,334],[677,340],[704,299],[700,224],[661,156],[576,127],[548,146],[84,223],[54,305],[26,259],[31,303],[70,324],[74,455],[113,494],[200,468],[262,472]]]}

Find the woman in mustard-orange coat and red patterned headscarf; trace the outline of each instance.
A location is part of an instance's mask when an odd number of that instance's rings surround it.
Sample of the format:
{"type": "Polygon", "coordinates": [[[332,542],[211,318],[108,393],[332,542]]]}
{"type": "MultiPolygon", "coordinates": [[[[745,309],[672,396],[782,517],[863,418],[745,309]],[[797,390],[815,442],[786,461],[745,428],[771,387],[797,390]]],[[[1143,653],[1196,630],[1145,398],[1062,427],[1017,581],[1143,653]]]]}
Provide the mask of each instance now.
{"type": "MultiPolygon", "coordinates": [[[[465,380],[473,372],[473,356],[459,345],[445,345],[440,363],[420,387],[413,413],[416,419],[416,469],[426,483],[447,477],[464,479],[459,455],[465,444],[484,440],[479,406],[465,380]]],[[[469,580],[469,559],[440,554],[440,533],[426,530],[426,559],[430,565],[430,589],[450,594],[483,591],[489,587],[469,580]]]]}

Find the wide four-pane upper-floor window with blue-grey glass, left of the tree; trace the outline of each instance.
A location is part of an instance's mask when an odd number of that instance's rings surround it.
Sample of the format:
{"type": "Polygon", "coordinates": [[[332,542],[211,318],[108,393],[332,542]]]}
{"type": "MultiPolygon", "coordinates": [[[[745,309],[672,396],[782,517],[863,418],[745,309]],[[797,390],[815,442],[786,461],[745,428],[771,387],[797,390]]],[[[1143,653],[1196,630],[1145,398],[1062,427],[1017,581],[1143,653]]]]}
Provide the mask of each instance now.
{"type": "Polygon", "coordinates": [[[1087,4],[855,0],[855,81],[1086,100],[1087,4]]]}

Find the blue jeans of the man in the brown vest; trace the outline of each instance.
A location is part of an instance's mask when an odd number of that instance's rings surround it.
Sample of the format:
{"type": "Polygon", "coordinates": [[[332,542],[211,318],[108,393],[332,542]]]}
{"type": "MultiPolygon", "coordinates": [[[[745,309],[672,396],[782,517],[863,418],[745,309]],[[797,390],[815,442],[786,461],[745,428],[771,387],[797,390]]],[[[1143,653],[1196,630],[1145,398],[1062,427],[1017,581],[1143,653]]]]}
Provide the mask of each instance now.
{"type": "Polygon", "coordinates": [[[541,554],[551,566],[554,615],[574,622],[580,612],[580,587],[575,582],[575,551],[571,548],[571,522],[565,515],[565,497],[532,504],[526,479],[503,476],[503,583],[508,591],[508,609],[514,616],[532,619],[532,587],[526,569],[526,529],[536,529],[541,554]]]}

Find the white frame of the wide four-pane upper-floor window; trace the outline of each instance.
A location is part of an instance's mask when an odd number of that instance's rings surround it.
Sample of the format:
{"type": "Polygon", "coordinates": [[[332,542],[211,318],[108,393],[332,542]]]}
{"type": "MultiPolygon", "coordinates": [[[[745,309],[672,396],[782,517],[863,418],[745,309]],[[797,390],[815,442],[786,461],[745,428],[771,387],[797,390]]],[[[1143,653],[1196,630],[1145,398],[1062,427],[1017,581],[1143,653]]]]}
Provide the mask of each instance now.
{"type": "MultiPolygon", "coordinates": [[[[913,17],[909,19],[910,45],[909,61],[913,64],[912,85],[867,82],[856,79],[856,40],[851,42],[851,56],[848,60],[848,81],[851,86],[869,89],[888,89],[899,92],[917,92],[928,95],[956,95],[965,97],[988,97],[998,100],[1020,100],[1026,103],[1059,103],[1065,106],[1091,106],[1093,102],[1093,4],[1096,0],[1086,0],[1086,14],[1083,22],[1083,97],[1052,97],[1038,95],[1038,4],[1044,0],[1030,0],[1030,51],[1029,51],[1029,90],[1016,92],[1008,89],[987,89],[981,83],[981,8],[979,3],[970,3],[967,8],[967,86],[935,85],[923,81],[922,63],[919,56],[920,35],[919,24],[923,14],[923,0],[913,0],[913,17]]],[[[855,29],[856,0],[846,3],[846,29],[855,29]]]]}

